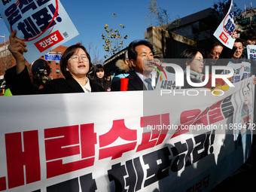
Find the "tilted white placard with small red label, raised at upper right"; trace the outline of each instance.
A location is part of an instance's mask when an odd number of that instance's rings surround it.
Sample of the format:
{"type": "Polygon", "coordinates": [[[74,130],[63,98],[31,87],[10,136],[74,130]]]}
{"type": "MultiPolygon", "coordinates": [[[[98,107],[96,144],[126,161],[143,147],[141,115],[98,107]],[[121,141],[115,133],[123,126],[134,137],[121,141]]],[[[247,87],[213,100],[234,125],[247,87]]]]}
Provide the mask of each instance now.
{"type": "Polygon", "coordinates": [[[233,0],[230,2],[230,8],[222,20],[221,24],[216,29],[215,33],[213,34],[215,38],[221,41],[224,46],[229,47],[230,49],[233,48],[233,44],[235,39],[232,38],[233,32],[235,32],[235,23],[234,23],[234,16],[233,16],[233,0]]]}

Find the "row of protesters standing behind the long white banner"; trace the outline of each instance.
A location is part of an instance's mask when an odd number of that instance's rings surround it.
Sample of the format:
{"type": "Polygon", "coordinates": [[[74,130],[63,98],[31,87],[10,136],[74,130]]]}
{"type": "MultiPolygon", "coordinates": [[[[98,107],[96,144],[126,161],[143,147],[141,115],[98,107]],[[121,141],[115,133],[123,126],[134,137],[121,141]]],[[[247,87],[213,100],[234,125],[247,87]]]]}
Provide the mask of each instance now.
{"type": "MultiPolygon", "coordinates": [[[[164,62],[163,58],[154,55],[153,46],[149,41],[136,40],[130,43],[124,58],[116,62],[117,70],[114,75],[107,78],[104,66],[98,64],[92,67],[86,48],[81,44],[75,44],[62,54],[60,60],[60,68],[65,78],[48,81],[44,84],[43,89],[35,89],[24,62],[23,52],[27,51],[26,44],[14,38],[15,34],[16,30],[10,35],[8,48],[16,59],[17,65],[5,73],[5,80],[14,95],[118,91],[120,90],[120,78],[129,79],[127,90],[154,90],[154,87],[151,86],[151,72],[154,66],[161,66],[164,62]],[[146,59],[147,62],[143,62],[143,59],[146,59]],[[90,72],[90,69],[93,70],[90,72]]],[[[232,63],[241,63],[248,59],[246,46],[255,44],[256,32],[242,32],[239,38],[234,32],[232,37],[235,38],[233,49],[225,47],[215,39],[209,40],[208,46],[203,49],[194,47],[181,53],[179,65],[185,75],[186,66],[190,66],[190,81],[203,82],[205,66],[209,66],[211,74],[212,66],[227,66],[227,60],[232,63]]],[[[250,62],[255,66],[253,59],[250,62]]],[[[182,88],[188,87],[190,86],[184,77],[184,87],[182,88]]]]}

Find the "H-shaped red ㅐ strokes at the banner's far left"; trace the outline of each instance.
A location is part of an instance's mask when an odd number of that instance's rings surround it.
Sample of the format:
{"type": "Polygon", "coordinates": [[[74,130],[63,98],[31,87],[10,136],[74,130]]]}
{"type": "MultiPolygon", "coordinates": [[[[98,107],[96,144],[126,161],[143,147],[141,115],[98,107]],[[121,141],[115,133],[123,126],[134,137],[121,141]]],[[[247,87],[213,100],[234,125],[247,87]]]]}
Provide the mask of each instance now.
{"type": "Polygon", "coordinates": [[[26,169],[26,184],[40,181],[40,157],[38,131],[5,134],[6,160],[8,169],[8,187],[18,187],[25,184],[24,169],[26,169]]]}

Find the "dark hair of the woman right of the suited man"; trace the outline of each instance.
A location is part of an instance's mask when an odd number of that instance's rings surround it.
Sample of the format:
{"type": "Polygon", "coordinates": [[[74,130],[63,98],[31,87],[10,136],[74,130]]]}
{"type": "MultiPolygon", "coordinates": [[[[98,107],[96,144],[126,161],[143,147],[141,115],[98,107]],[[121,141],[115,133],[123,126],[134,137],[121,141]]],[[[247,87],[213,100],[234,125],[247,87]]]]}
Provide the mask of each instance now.
{"type": "Polygon", "coordinates": [[[205,53],[203,53],[203,50],[197,48],[189,48],[181,53],[181,55],[179,56],[179,62],[182,69],[186,69],[186,62],[192,62],[194,57],[197,55],[197,52],[201,53],[203,58],[206,58],[205,53]]]}

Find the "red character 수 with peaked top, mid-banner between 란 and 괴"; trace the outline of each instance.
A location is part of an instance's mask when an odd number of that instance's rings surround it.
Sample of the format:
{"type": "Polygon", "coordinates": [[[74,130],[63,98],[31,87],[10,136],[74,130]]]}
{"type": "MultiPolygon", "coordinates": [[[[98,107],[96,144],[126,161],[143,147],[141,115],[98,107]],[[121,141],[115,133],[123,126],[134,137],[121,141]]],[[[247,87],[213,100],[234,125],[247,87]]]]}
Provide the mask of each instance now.
{"type": "Polygon", "coordinates": [[[112,160],[119,158],[122,156],[123,153],[127,151],[132,151],[136,147],[136,142],[136,130],[128,129],[125,126],[123,119],[113,120],[113,126],[111,127],[111,130],[109,130],[108,133],[99,136],[99,160],[107,157],[112,157],[112,160]],[[108,145],[111,145],[111,143],[115,142],[118,137],[130,143],[105,148],[108,145]]]}

